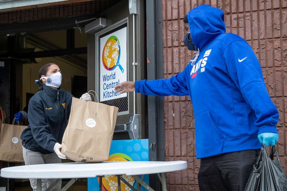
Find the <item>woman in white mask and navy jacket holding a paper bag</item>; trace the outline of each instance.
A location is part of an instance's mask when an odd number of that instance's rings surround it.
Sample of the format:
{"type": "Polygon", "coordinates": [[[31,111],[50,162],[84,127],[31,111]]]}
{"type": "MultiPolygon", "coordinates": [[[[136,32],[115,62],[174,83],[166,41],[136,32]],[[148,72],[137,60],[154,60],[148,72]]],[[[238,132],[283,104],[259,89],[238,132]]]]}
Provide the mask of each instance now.
{"type": "MultiPolygon", "coordinates": [[[[63,134],[69,119],[72,97],[60,88],[62,75],[57,64],[45,64],[39,71],[39,91],[30,99],[28,120],[30,125],[21,135],[25,165],[60,163],[66,156],[61,153],[63,134]]],[[[83,94],[80,99],[91,101],[83,94]]],[[[46,190],[56,179],[42,179],[46,190]]],[[[33,191],[37,180],[30,179],[33,191]]],[[[52,190],[61,190],[61,181],[52,190]]]]}

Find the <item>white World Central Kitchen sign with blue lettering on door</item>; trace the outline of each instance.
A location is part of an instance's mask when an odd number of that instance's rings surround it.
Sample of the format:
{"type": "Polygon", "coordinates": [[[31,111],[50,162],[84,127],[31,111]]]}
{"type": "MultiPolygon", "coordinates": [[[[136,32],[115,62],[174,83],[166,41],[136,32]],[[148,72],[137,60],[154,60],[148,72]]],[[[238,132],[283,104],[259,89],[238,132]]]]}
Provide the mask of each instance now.
{"type": "Polygon", "coordinates": [[[127,27],[100,37],[100,101],[126,97],[115,92],[127,81],[127,27]]]}

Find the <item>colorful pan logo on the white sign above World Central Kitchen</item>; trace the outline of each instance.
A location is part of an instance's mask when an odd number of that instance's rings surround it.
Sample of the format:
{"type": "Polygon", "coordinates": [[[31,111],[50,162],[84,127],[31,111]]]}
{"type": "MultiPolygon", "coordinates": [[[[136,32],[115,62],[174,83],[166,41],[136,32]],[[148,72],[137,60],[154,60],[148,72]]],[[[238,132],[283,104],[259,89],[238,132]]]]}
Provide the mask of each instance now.
{"type": "Polygon", "coordinates": [[[113,71],[117,66],[124,73],[124,68],[119,64],[119,58],[121,56],[121,47],[119,45],[119,39],[116,36],[108,38],[102,55],[103,65],[108,71],[113,71]]]}

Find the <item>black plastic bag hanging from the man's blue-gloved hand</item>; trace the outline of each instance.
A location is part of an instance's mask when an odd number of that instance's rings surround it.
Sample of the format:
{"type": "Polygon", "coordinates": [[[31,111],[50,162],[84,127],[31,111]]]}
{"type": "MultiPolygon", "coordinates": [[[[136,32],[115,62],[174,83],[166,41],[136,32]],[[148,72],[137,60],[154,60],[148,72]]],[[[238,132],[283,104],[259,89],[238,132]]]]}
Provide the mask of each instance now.
{"type": "Polygon", "coordinates": [[[287,191],[286,175],[274,146],[270,156],[265,145],[262,146],[244,191],[287,191]]]}

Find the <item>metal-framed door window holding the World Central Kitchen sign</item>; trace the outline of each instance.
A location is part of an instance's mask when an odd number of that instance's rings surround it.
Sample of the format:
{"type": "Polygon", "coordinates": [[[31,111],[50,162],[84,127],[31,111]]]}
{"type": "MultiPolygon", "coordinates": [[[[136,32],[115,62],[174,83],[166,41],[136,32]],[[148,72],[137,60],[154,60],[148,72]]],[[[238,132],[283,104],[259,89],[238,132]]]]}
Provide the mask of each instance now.
{"type": "Polygon", "coordinates": [[[97,32],[95,39],[95,90],[100,103],[118,107],[118,116],[129,114],[128,93],[114,90],[128,81],[128,18],[97,32]]]}

